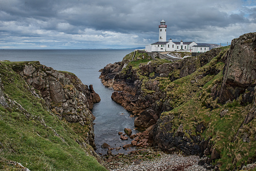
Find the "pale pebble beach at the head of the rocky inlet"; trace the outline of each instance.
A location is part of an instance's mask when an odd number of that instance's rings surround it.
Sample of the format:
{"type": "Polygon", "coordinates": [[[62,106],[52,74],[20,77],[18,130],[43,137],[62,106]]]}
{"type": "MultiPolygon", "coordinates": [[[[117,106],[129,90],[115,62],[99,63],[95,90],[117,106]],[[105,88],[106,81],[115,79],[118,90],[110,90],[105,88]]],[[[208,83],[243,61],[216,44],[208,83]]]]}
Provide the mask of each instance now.
{"type": "Polygon", "coordinates": [[[111,171],[121,170],[209,170],[198,164],[199,156],[182,156],[141,148],[128,155],[114,155],[106,165],[111,171]]]}

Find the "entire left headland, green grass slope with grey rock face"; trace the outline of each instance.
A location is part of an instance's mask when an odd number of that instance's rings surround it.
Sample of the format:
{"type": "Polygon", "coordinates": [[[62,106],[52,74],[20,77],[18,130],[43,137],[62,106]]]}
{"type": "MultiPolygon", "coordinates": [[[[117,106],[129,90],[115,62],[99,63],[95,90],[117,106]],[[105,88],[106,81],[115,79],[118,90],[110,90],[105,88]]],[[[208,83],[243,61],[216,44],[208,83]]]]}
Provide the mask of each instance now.
{"type": "Polygon", "coordinates": [[[100,161],[93,150],[90,111],[100,98],[92,85],[37,61],[0,65],[1,164],[11,160],[32,170],[105,170],[92,157],[100,161]]]}

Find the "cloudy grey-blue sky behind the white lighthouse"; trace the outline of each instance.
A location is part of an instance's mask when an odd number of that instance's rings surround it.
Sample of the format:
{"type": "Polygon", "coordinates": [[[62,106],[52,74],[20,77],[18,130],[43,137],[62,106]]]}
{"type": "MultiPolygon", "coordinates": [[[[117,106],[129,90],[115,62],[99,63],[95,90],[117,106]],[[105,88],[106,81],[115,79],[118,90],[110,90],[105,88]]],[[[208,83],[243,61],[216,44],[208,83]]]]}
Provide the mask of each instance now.
{"type": "Polygon", "coordinates": [[[256,32],[256,0],[0,0],[0,49],[123,49],[158,41],[230,44],[256,32]]]}

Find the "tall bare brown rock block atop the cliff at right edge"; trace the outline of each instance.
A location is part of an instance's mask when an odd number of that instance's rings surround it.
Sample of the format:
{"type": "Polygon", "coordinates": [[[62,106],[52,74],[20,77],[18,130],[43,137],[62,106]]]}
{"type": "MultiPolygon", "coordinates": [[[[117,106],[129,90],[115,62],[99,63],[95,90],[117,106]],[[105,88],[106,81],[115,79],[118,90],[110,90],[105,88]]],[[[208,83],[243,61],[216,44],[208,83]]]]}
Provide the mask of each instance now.
{"type": "Polygon", "coordinates": [[[219,101],[237,99],[243,94],[243,104],[251,103],[256,86],[256,33],[233,39],[223,70],[219,101]]]}

